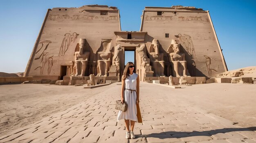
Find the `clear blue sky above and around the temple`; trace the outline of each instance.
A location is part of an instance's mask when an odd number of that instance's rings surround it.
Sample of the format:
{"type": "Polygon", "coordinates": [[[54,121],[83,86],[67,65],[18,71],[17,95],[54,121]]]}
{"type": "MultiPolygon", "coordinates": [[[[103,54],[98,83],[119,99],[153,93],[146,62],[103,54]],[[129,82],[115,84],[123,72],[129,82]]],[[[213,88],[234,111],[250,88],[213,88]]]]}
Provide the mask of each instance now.
{"type": "Polygon", "coordinates": [[[209,10],[228,69],[256,66],[256,0],[0,0],[0,72],[25,71],[47,9],[90,4],[116,6],[124,31],[139,31],[145,6],[209,10]]]}

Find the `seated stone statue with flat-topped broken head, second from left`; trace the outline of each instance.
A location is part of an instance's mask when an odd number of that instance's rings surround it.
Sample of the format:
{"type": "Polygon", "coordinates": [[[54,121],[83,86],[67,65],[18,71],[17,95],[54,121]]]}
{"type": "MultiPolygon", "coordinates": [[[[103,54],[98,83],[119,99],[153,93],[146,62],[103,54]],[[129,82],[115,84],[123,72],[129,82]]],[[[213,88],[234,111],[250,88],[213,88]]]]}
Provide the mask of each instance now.
{"type": "Polygon", "coordinates": [[[101,41],[101,47],[97,52],[98,65],[97,65],[97,76],[108,76],[111,63],[111,52],[110,45],[111,39],[103,39],[101,41]]]}

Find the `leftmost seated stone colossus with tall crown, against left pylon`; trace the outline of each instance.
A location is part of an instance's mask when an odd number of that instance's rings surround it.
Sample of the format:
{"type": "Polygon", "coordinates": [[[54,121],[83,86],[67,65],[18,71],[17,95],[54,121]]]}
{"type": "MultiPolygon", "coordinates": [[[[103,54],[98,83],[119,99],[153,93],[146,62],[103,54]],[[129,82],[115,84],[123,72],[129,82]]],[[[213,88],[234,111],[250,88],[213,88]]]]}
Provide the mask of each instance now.
{"type": "Polygon", "coordinates": [[[85,52],[85,40],[86,39],[80,39],[79,52],[75,52],[75,76],[85,76],[85,69],[88,65],[88,59],[90,56],[90,52],[85,52]]]}

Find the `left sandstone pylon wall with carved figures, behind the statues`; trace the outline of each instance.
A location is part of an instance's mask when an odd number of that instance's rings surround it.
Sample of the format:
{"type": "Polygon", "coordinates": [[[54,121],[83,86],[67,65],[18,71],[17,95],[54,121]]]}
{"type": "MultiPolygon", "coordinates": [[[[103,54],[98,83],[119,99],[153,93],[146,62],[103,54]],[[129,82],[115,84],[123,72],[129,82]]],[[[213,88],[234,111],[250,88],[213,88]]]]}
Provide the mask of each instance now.
{"type": "Polygon", "coordinates": [[[120,30],[116,7],[91,5],[48,9],[24,76],[60,76],[61,65],[72,65],[80,38],[87,40],[87,51],[91,52],[89,62],[97,61],[95,54],[101,41],[112,39],[113,47],[114,31],[120,30]],[[107,15],[101,15],[105,13],[107,15]]]}

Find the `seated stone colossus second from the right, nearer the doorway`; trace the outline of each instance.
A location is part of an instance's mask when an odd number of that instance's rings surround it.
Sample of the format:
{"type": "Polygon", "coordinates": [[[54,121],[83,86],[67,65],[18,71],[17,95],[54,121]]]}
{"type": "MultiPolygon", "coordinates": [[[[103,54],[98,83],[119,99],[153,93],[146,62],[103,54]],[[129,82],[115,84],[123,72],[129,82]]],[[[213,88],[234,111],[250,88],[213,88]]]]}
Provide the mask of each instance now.
{"type": "Polygon", "coordinates": [[[148,52],[150,54],[150,61],[153,65],[155,76],[165,76],[164,75],[164,54],[159,53],[159,41],[153,39],[148,52]]]}

